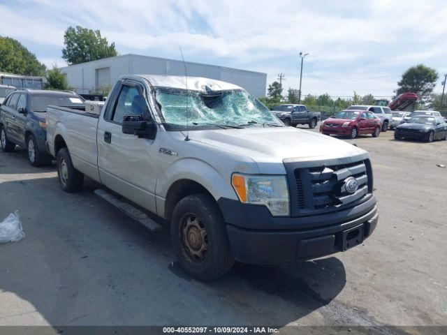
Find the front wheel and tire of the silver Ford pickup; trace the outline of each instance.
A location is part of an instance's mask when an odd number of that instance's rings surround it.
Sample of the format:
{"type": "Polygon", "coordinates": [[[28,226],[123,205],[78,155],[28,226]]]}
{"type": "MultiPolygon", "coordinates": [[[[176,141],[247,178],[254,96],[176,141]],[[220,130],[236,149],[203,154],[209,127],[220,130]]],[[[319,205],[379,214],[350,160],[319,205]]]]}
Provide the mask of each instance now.
{"type": "Polygon", "coordinates": [[[233,267],[226,226],[210,195],[197,193],[178,202],[171,219],[171,240],[182,269],[199,281],[220,278],[233,267]]]}

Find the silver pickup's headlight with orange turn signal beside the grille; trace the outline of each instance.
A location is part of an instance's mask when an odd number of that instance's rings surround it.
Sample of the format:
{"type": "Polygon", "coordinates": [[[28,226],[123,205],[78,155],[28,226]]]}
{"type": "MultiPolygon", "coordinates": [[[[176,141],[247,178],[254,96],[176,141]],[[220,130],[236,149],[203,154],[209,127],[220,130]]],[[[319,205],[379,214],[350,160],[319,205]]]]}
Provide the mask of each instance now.
{"type": "Polygon", "coordinates": [[[289,211],[286,176],[256,176],[235,173],[231,184],[240,202],[263,204],[272,216],[287,216],[289,211]]]}

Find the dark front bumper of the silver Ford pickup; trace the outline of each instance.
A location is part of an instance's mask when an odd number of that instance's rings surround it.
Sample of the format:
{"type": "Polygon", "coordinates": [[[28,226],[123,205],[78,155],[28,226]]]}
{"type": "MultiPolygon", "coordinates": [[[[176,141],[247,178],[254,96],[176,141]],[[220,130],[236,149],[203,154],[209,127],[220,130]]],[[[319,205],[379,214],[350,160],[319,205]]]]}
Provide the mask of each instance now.
{"type": "Polygon", "coordinates": [[[272,217],[267,213],[255,218],[245,215],[248,211],[238,210],[236,203],[219,200],[233,256],[244,263],[290,263],[345,251],[369,237],[379,218],[374,197],[351,209],[307,218],[272,217]],[[255,225],[262,228],[247,228],[255,225]],[[351,230],[356,232],[356,239],[346,241],[351,230]]]}

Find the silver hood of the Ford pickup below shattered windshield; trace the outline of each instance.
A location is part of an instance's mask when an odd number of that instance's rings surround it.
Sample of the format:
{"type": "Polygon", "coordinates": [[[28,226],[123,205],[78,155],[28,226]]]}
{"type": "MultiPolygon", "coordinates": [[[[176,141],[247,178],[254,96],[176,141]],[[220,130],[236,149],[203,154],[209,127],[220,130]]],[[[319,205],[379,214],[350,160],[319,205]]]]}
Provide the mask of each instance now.
{"type": "Polygon", "coordinates": [[[190,138],[249,157],[264,173],[273,173],[272,169],[278,168],[284,171],[284,161],[368,156],[367,151],[342,140],[293,127],[194,131],[190,133],[190,138]],[[274,163],[281,164],[275,167],[274,163]]]}

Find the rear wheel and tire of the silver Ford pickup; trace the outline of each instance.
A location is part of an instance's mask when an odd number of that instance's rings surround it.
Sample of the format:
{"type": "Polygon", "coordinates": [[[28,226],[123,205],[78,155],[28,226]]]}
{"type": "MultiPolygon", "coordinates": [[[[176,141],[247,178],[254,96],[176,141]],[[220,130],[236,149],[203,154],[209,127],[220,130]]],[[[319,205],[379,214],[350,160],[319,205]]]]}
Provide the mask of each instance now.
{"type": "Polygon", "coordinates": [[[79,191],[84,183],[84,174],[73,167],[67,148],[62,148],[57,153],[57,178],[62,190],[68,193],[79,191]]]}

